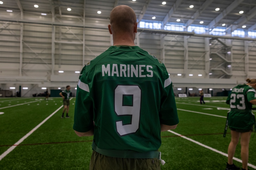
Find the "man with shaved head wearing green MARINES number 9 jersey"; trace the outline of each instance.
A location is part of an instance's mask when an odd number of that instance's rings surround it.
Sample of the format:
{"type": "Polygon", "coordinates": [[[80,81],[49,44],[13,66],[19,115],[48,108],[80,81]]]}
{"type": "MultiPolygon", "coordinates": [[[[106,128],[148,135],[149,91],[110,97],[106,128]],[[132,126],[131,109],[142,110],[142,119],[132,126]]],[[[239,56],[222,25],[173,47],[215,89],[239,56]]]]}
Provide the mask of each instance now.
{"type": "Polygon", "coordinates": [[[164,64],[134,44],[137,24],[132,8],[115,7],[113,46],[79,77],[73,129],[94,135],[90,169],[160,169],[161,131],[179,123],[164,64]]]}

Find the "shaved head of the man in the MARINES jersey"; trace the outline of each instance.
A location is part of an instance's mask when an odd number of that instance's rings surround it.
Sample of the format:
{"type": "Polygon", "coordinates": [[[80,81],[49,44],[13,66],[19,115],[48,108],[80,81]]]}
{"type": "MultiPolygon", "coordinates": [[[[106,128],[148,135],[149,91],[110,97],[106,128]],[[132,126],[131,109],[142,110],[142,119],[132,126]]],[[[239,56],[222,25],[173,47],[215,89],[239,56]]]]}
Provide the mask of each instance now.
{"type": "Polygon", "coordinates": [[[134,10],[126,5],[115,7],[110,13],[110,24],[112,32],[132,32],[136,24],[134,10]]]}

